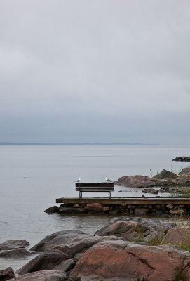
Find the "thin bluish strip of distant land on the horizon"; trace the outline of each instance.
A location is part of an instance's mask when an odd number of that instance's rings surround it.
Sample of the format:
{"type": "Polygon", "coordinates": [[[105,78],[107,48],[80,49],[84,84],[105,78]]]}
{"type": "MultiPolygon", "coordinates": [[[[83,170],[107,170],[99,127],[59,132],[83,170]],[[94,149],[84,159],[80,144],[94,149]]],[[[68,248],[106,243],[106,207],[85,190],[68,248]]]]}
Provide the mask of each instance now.
{"type": "Polygon", "coordinates": [[[158,143],[6,143],[0,145],[160,145],[158,143]]]}

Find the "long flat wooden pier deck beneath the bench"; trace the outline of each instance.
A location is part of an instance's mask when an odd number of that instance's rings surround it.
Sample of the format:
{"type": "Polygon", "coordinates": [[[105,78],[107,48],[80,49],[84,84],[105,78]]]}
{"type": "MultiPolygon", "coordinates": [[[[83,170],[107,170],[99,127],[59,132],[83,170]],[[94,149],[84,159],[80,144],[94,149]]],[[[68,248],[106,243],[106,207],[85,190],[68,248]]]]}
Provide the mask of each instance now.
{"type": "Polygon", "coordinates": [[[190,197],[62,197],[57,198],[56,203],[65,204],[177,204],[190,205],[190,197]]]}

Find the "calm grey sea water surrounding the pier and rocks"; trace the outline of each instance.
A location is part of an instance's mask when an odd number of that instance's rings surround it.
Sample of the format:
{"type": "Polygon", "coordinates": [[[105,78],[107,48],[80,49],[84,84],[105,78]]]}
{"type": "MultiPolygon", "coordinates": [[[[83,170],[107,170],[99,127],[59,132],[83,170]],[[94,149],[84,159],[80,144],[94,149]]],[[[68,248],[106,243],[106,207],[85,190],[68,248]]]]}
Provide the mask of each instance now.
{"type": "MultiPolygon", "coordinates": [[[[25,239],[32,247],[60,230],[93,233],[116,216],[63,216],[43,211],[55,205],[57,197],[78,196],[74,180],[79,176],[82,181],[101,182],[105,177],[116,181],[127,175],[151,176],[162,169],[178,172],[190,166],[187,162],[172,162],[180,155],[189,156],[190,146],[0,145],[0,243],[25,239]]],[[[115,197],[142,196],[139,190],[115,189],[115,197]]],[[[0,269],[12,266],[17,270],[25,263],[27,259],[1,258],[0,269]]]]}

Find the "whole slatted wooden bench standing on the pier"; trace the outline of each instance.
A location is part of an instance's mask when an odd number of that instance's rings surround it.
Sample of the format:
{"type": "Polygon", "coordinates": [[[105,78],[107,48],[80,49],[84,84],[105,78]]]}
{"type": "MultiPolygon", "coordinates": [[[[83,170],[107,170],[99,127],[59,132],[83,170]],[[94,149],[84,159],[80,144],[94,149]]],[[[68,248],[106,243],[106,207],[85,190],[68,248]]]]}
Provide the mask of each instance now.
{"type": "Polygon", "coordinates": [[[79,197],[83,197],[83,192],[108,192],[111,198],[111,191],[114,191],[114,183],[75,183],[79,197]]]}

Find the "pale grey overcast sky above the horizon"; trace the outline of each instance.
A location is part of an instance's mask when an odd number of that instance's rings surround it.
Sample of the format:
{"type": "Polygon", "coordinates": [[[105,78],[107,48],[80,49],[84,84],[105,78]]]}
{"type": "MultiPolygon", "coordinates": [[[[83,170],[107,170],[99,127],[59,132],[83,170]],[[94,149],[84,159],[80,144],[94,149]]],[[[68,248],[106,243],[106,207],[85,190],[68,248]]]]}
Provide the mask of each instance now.
{"type": "Polygon", "coordinates": [[[0,141],[190,143],[189,0],[0,0],[0,141]]]}

